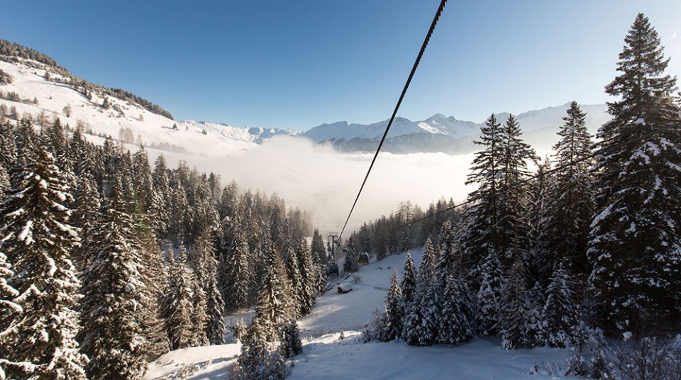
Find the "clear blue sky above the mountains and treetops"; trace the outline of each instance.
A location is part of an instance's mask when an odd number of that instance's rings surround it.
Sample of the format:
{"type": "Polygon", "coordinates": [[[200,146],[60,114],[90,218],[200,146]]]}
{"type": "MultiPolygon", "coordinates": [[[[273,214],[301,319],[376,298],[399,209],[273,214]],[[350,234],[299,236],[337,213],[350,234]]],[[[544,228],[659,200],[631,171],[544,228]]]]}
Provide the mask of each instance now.
{"type": "MultiPolygon", "coordinates": [[[[177,120],[307,130],[389,118],[439,2],[4,1],[0,38],[177,120]]],[[[638,12],[680,75],[678,0],[451,0],[399,115],[604,103],[638,12]]]]}

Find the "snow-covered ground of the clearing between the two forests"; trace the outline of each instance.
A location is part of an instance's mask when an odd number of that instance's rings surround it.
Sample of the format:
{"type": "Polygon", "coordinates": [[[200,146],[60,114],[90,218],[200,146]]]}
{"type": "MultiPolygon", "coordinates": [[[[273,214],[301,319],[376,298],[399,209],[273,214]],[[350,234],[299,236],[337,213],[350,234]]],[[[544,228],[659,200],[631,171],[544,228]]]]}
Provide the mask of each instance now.
{"type": "MultiPolygon", "coordinates": [[[[411,254],[418,266],[421,250],[411,254]]],[[[502,350],[495,337],[455,347],[363,343],[360,331],[375,309],[382,310],[390,274],[394,268],[402,274],[405,258],[406,253],[371,262],[344,280],[353,283],[348,294],[334,287],[317,299],[314,311],[299,322],[303,354],[287,362],[287,379],[567,379],[569,350],[502,350]]],[[[242,317],[248,323],[252,315],[230,315],[226,323],[242,317]]],[[[144,379],[228,379],[239,352],[238,344],[173,351],[151,363],[144,379]]]]}

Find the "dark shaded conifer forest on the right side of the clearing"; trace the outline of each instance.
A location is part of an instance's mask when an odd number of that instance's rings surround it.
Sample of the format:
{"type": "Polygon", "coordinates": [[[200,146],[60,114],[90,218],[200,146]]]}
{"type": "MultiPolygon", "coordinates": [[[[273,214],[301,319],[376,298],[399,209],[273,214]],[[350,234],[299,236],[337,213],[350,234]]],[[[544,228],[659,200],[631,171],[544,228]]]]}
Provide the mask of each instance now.
{"type": "MultiPolygon", "coordinates": [[[[393,274],[368,339],[433,345],[497,335],[506,349],[574,347],[571,374],[678,377],[681,96],[643,14],[625,43],[606,86],[620,100],[608,104],[598,143],[575,102],[551,160],[536,157],[513,116],[487,119],[467,177],[477,185],[470,204],[420,233],[433,240],[418,269],[407,257],[402,279],[393,274]],[[627,342],[609,351],[604,336],[627,342]]],[[[362,248],[380,241],[379,222],[355,235],[362,248]]]]}

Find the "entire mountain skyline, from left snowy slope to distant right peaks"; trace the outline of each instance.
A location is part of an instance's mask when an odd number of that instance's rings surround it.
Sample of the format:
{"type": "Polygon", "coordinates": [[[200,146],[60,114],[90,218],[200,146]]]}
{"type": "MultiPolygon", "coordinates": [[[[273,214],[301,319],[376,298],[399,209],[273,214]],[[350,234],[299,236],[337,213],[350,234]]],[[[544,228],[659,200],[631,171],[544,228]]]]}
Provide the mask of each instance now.
{"type": "MultiPolygon", "coordinates": [[[[50,57],[4,40],[0,40],[0,91],[0,104],[6,105],[8,113],[16,109],[15,118],[25,113],[33,116],[43,113],[59,117],[62,124],[78,125],[94,137],[111,135],[124,143],[142,143],[153,149],[205,157],[236,155],[281,135],[333,145],[341,152],[374,152],[388,123],[387,120],[369,125],[338,121],[299,133],[207,121],[178,122],[150,101],[121,89],[87,82],[50,57]]],[[[553,145],[558,140],[555,133],[563,124],[567,106],[516,115],[524,140],[535,147],[553,145]]],[[[587,113],[587,128],[592,133],[609,119],[604,104],[582,105],[582,111],[587,113]]],[[[508,116],[509,113],[498,113],[497,120],[503,123],[508,116]]],[[[480,135],[482,125],[484,121],[460,121],[440,113],[423,121],[398,117],[382,150],[397,154],[472,152],[473,141],[480,135]]]]}

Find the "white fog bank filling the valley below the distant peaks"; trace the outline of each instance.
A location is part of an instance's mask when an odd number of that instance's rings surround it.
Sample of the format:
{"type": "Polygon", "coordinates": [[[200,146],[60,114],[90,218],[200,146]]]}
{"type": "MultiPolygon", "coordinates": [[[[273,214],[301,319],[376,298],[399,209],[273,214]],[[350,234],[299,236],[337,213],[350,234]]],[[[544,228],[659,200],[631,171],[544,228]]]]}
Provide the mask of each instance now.
{"type": "MultiPolygon", "coordinates": [[[[159,152],[150,150],[152,160],[159,152]]],[[[287,206],[312,213],[321,233],[340,233],[369,168],[372,154],[339,153],[328,145],[302,138],[277,136],[236,156],[201,157],[161,152],[169,167],[179,160],[199,172],[220,174],[223,186],[234,180],[240,189],[276,193],[287,206]]],[[[425,209],[441,197],[459,203],[475,189],[466,186],[474,154],[381,152],[348,223],[348,233],[362,223],[389,215],[400,202],[425,209]]]]}

